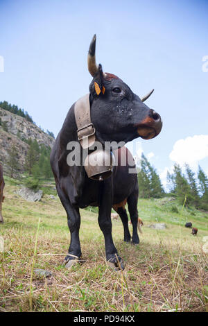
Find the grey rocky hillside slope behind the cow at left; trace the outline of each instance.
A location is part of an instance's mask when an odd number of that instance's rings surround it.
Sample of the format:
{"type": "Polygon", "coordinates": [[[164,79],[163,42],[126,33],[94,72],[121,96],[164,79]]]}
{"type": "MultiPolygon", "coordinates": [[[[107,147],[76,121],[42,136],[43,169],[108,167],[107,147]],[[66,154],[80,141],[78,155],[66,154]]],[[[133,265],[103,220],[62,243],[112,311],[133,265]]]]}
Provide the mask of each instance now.
{"type": "Polygon", "coordinates": [[[8,156],[10,148],[15,145],[18,153],[20,169],[23,170],[28,139],[36,139],[38,144],[52,148],[55,139],[43,132],[35,124],[0,108],[0,162],[5,172],[8,171],[8,156]]]}

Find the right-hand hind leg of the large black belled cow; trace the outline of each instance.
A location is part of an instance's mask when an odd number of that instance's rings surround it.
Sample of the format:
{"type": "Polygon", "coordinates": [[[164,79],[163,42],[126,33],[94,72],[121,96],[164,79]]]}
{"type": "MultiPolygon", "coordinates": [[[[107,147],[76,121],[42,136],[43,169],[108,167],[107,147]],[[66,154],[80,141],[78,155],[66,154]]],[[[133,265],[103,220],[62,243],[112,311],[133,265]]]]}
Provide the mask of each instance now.
{"type": "Polygon", "coordinates": [[[130,213],[130,220],[132,222],[132,243],[138,244],[139,243],[139,236],[137,232],[137,225],[138,225],[138,210],[137,210],[137,202],[138,202],[138,188],[136,187],[135,191],[130,194],[128,197],[128,211],[130,213]]]}

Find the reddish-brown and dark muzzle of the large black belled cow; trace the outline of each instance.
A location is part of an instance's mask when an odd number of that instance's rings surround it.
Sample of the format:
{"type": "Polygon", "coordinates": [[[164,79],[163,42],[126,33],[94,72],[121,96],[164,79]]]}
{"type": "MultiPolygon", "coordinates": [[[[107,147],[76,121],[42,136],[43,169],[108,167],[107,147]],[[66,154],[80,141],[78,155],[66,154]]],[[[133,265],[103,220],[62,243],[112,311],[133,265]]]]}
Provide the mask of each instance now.
{"type": "Polygon", "coordinates": [[[156,137],[162,129],[162,120],[160,115],[150,109],[148,117],[137,125],[137,133],[143,139],[152,139],[156,137]]]}

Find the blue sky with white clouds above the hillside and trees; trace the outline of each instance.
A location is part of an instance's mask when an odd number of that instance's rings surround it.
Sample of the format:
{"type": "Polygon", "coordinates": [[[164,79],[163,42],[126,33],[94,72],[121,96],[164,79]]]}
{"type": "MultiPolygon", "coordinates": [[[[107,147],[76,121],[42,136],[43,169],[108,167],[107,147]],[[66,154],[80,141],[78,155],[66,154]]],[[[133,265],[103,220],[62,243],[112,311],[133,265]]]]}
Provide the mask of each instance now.
{"type": "Polygon", "coordinates": [[[57,135],[71,104],[88,92],[87,51],[96,33],[104,71],[139,96],[155,88],[146,104],[164,126],[139,146],[163,180],[175,160],[208,173],[207,9],[207,1],[184,0],[0,0],[0,101],[57,135]]]}

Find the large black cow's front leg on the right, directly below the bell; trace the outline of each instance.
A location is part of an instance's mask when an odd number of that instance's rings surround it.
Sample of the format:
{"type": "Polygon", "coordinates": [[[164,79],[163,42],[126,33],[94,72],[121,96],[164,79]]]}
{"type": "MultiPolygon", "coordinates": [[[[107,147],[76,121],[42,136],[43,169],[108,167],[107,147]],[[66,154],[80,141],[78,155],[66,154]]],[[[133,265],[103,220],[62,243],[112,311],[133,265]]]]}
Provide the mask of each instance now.
{"type": "Polygon", "coordinates": [[[108,263],[117,270],[124,269],[123,261],[119,257],[112,239],[112,178],[102,182],[99,189],[99,214],[98,223],[105,239],[105,256],[108,263]]]}

